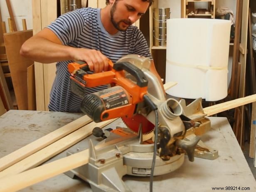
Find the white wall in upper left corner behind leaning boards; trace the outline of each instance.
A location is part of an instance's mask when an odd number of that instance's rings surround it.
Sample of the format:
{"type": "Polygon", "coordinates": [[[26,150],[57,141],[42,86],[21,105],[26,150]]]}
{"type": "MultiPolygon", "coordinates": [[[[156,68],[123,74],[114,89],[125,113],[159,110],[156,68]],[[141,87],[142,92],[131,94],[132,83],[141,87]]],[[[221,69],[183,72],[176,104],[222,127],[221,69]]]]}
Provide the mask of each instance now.
{"type": "MultiPolygon", "coordinates": [[[[32,1],[31,0],[10,0],[12,11],[17,25],[17,30],[22,30],[22,19],[26,19],[27,29],[31,30],[32,26],[32,1]]],[[[2,21],[5,22],[6,31],[9,32],[8,18],[10,18],[6,1],[0,0],[0,9],[2,21]]]]}

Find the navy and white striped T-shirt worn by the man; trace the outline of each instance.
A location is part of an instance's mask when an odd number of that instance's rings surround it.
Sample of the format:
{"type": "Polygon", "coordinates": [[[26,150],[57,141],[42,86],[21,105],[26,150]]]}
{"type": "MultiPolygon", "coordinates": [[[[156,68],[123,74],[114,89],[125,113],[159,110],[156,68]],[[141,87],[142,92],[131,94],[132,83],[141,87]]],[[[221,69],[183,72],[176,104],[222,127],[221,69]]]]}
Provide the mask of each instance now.
{"type": "MultiPolygon", "coordinates": [[[[100,19],[100,9],[81,8],[61,15],[49,26],[62,44],[96,49],[116,62],[127,54],[139,54],[151,57],[148,44],[140,30],[130,26],[126,31],[109,34],[100,19]]],[[[62,61],[56,64],[57,71],[50,93],[49,110],[81,112],[81,98],[70,91],[70,79],[67,65],[74,61],[62,61]]],[[[92,73],[92,72],[91,72],[92,73]]],[[[106,89],[106,85],[86,88],[86,94],[106,89]]]]}

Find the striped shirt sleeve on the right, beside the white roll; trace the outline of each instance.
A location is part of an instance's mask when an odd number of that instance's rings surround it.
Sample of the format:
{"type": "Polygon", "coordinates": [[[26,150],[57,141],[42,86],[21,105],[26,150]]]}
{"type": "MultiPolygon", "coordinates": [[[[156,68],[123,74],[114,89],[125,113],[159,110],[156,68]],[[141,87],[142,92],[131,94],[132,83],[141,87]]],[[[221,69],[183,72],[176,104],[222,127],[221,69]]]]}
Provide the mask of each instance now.
{"type": "Polygon", "coordinates": [[[135,44],[133,54],[138,54],[143,57],[150,57],[150,59],[153,59],[148,48],[148,43],[142,32],[138,29],[135,33],[135,44]]]}

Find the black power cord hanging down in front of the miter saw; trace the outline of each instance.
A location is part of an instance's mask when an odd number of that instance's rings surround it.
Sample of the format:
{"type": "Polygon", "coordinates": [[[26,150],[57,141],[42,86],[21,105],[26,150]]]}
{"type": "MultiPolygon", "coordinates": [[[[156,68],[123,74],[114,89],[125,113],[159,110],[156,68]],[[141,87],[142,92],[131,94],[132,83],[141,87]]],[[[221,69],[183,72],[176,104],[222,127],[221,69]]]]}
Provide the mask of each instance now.
{"type": "Polygon", "coordinates": [[[151,172],[150,172],[150,187],[149,191],[153,192],[153,179],[154,179],[154,169],[155,169],[155,159],[156,159],[156,152],[157,152],[157,143],[158,143],[158,106],[153,103],[153,101],[147,96],[144,95],[143,98],[148,103],[150,108],[155,112],[155,141],[154,141],[154,152],[153,152],[153,160],[151,165],[151,172]]]}

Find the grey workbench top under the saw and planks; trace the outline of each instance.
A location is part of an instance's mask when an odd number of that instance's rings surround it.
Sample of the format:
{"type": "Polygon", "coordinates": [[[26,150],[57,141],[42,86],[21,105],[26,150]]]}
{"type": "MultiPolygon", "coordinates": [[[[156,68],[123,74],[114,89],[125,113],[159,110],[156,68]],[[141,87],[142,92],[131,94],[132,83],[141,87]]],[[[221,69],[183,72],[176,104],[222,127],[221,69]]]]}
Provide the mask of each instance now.
{"type": "MultiPolygon", "coordinates": [[[[47,111],[8,111],[0,117],[0,158],[82,115],[47,111]]],[[[194,162],[190,162],[186,156],[184,164],[176,171],[154,177],[155,192],[212,192],[212,187],[237,187],[237,190],[232,191],[239,191],[239,187],[240,190],[241,187],[250,187],[250,190],[246,191],[256,191],[256,181],[229,122],[223,117],[210,117],[210,120],[212,128],[201,140],[219,150],[219,157],[215,160],[195,158],[194,162]]],[[[120,126],[120,121],[113,122],[108,127],[116,126],[120,126]]],[[[65,155],[66,151],[49,161],[65,155]]],[[[133,192],[149,191],[148,177],[126,175],[123,180],[133,192]]],[[[20,191],[91,192],[91,188],[80,179],[71,179],[61,174],[20,191]]]]}

